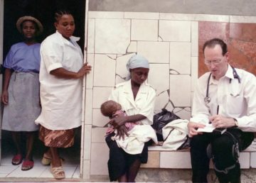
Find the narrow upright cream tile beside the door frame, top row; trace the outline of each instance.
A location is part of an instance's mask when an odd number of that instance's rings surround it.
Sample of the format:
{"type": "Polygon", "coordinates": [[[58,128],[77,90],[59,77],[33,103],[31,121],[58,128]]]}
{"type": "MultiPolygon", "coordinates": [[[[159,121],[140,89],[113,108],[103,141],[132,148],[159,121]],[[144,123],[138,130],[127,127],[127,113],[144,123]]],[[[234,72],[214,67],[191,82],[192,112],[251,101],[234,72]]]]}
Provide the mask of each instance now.
{"type": "Polygon", "coordinates": [[[94,53],[95,47],[95,19],[88,18],[87,53],[94,53]]]}

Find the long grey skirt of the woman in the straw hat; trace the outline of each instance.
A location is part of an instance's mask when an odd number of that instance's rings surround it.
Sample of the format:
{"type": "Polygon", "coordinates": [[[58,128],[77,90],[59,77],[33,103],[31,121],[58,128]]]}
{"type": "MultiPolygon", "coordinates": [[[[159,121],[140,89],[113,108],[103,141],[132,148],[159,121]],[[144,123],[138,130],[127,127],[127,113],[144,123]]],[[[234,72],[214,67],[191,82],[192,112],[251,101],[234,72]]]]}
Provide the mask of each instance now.
{"type": "Polygon", "coordinates": [[[9,102],[4,106],[2,129],[38,131],[35,123],[41,113],[38,73],[13,72],[8,94],[9,102]]]}

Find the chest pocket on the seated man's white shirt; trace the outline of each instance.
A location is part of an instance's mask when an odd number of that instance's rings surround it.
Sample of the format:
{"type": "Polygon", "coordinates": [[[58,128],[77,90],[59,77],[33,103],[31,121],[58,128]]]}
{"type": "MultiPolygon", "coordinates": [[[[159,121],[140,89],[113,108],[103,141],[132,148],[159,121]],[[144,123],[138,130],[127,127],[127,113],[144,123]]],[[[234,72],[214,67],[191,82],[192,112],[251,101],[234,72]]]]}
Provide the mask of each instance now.
{"type": "Polygon", "coordinates": [[[226,99],[224,100],[224,105],[228,113],[239,116],[246,109],[246,101],[243,96],[226,95],[225,98],[226,99]]]}

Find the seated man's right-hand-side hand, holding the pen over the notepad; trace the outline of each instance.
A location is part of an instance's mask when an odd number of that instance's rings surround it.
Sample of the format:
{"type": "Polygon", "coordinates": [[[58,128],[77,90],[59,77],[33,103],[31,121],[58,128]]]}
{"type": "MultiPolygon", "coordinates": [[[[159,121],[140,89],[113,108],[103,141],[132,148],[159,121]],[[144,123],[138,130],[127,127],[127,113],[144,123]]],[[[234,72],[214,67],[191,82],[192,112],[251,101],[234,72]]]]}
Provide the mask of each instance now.
{"type": "Polygon", "coordinates": [[[215,128],[230,128],[235,126],[235,120],[233,118],[225,118],[220,115],[210,116],[210,122],[213,123],[215,128]]]}

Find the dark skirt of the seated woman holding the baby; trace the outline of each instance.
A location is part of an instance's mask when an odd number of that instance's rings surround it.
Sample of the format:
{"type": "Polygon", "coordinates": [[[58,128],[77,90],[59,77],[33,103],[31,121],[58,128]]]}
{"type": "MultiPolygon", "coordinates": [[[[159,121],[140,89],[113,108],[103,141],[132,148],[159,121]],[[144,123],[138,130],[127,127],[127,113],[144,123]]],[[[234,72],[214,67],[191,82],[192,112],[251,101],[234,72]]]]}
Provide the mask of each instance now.
{"type": "Polygon", "coordinates": [[[119,148],[115,140],[111,139],[114,135],[114,133],[111,133],[105,139],[107,146],[110,148],[110,159],[107,162],[107,167],[111,182],[125,174],[135,160],[146,163],[148,159],[148,145],[146,143],[141,154],[130,155],[119,148]]]}

